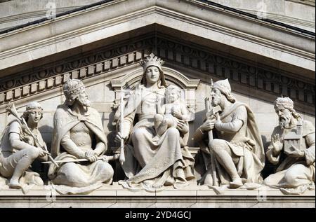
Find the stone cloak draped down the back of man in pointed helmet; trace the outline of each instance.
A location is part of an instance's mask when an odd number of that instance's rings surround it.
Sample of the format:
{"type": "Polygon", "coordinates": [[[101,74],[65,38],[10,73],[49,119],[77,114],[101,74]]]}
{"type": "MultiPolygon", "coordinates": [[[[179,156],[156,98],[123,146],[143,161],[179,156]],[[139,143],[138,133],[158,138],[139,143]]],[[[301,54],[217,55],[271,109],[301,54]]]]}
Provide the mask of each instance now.
{"type": "MultiPolygon", "coordinates": [[[[254,113],[249,106],[241,102],[235,102],[232,106],[225,109],[223,113],[220,113],[222,123],[233,123],[237,119],[243,122],[238,132],[228,133],[214,128],[214,134],[216,134],[218,139],[223,139],[232,153],[239,159],[235,166],[243,181],[247,183],[262,183],[261,171],[265,165],[265,153],[254,113]]],[[[204,166],[199,164],[196,167],[197,171],[202,173],[200,183],[204,183],[204,177],[209,173],[201,168],[213,166],[216,168],[216,180],[219,181],[219,185],[229,184],[230,176],[224,167],[219,164],[216,158],[213,158],[213,162],[211,162],[207,135],[207,133],[203,133],[199,128],[195,132],[195,141],[197,141],[202,150],[201,154],[204,155],[204,160],[200,161],[204,162],[204,166]]]]}

